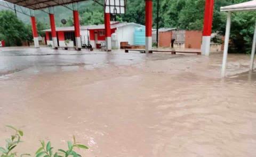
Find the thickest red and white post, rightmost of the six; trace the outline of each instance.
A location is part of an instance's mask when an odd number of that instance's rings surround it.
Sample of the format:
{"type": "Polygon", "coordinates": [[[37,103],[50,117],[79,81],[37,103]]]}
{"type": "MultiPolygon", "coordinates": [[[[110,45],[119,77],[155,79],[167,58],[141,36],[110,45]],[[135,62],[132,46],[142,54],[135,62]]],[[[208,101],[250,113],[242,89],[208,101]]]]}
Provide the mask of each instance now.
{"type": "Polygon", "coordinates": [[[202,41],[202,47],[201,47],[202,54],[205,56],[210,55],[213,8],[214,8],[214,0],[206,0],[205,10],[204,10],[203,41],[202,41]]]}

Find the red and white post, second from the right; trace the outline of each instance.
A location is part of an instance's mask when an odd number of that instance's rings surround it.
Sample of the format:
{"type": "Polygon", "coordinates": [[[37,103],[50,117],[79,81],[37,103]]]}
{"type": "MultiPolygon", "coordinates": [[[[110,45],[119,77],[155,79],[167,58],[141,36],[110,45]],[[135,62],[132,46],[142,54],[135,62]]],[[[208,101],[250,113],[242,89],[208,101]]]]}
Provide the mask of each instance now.
{"type": "Polygon", "coordinates": [[[146,25],[146,53],[149,53],[149,50],[152,49],[152,15],[153,15],[153,5],[152,0],[145,0],[146,2],[146,13],[145,13],[145,25],[146,25]]]}

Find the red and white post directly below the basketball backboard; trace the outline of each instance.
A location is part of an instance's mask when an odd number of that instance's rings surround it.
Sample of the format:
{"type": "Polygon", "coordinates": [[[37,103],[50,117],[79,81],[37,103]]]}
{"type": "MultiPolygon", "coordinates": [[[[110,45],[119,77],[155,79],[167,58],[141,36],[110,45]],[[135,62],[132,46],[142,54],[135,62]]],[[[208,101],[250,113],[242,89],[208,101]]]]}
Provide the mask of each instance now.
{"type": "Polygon", "coordinates": [[[106,40],[106,51],[111,51],[111,28],[110,28],[110,13],[104,14],[105,23],[105,40],[106,40]]]}

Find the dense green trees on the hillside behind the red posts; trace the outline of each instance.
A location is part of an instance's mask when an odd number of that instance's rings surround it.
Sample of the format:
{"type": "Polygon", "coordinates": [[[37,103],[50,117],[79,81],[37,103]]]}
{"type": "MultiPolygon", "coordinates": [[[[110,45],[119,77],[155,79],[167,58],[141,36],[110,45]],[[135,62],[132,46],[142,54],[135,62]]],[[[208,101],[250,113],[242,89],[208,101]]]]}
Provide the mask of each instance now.
{"type": "MultiPolygon", "coordinates": [[[[103,3],[103,0],[98,1],[100,3],[103,3]]],[[[226,13],[220,12],[220,6],[226,6],[246,1],[249,0],[215,0],[213,32],[218,32],[221,34],[225,33],[226,13]]],[[[159,2],[159,27],[202,30],[205,0],[159,0],[159,2]]],[[[153,3],[153,27],[155,28],[156,0],[153,0],[153,3]]],[[[70,10],[65,7],[58,6],[55,7],[54,11],[55,23],[57,27],[73,25],[73,14],[70,10]],[[61,24],[61,19],[66,19],[68,21],[67,24],[61,24]]],[[[85,1],[79,3],[79,13],[81,16],[80,21],[82,25],[101,24],[104,21],[103,7],[95,3],[94,1],[85,1]]],[[[230,46],[230,50],[245,53],[251,49],[251,42],[255,25],[255,15],[255,12],[233,13],[230,34],[232,44],[230,46]]],[[[41,21],[42,23],[44,23],[43,28],[49,28],[49,17],[46,13],[38,11],[36,12],[36,17],[37,21],[41,21]]],[[[118,15],[116,19],[118,21],[136,22],[144,24],[145,0],[127,0],[126,14],[118,15]]],[[[18,23],[20,24],[20,21],[18,23]]],[[[0,25],[0,27],[2,27],[2,25],[0,25]]]]}

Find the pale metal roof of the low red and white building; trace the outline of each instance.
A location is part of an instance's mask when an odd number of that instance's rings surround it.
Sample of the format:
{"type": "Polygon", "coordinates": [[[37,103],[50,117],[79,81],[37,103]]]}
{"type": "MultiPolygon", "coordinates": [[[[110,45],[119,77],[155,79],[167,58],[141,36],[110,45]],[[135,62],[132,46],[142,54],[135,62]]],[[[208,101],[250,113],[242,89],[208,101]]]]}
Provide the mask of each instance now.
{"type": "MultiPolygon", "coordinates": [[[[122,22],[122,23],[113,23],[111,24],[111,29],[113,28],[120,28],[120,27],[124,27],[126,25],[135,25],[137,27],[145,27],[144,25],[138,24],[138,23],[133,23],[133,22],[122,22]]],[[[105,29],[105,25],[104,24],[99,24],[99,25],[82,25],[80,27],[81,30],[94,30],[94,29],[105,29]]],[[[75,28],[74,27],[57,27],[56,31],[74,31],[75,28]]],[[[43,32],[50,32],[51,29],[46,29],[46,30],[42,30],[43,32]]]]}

